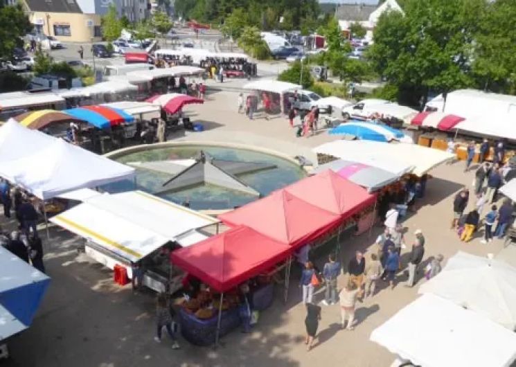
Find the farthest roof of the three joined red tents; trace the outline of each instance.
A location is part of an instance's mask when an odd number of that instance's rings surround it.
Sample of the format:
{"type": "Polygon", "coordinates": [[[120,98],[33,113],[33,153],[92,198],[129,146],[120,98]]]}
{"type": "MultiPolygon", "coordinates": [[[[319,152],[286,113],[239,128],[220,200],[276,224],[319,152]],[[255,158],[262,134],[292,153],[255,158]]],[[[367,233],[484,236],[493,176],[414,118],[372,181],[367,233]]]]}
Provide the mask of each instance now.
{"type": "Polygon", "coordinates": [[[326,211],[350,217],[374,204],[376,196],[332,170],[325,170],[283,188],[288,193],[326,211]]]}

